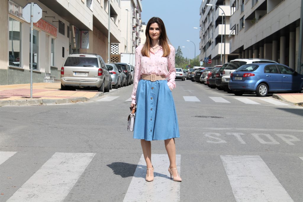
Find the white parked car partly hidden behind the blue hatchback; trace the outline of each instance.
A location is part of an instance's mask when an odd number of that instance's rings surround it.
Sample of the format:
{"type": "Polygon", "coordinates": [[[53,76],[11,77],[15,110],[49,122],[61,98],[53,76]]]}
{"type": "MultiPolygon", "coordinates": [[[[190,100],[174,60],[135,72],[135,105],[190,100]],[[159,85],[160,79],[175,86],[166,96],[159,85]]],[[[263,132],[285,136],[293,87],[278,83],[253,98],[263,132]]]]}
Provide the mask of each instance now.
{"type": "Polygon", "coordinates": [[[221,84],[222,84],[223,88],[225,88],[225,91],[227,91],[228,93],[232,93],[232,91],[228,88],[230,74],[232,72],[234,72],[240,66],[246,65],[246,64],[252,64],[252,63],[277,63],[277,62],[275,62],[273,60],[269,60],[269,59],[259,59],[259,58],[231,60],[222,73],[222,83],[221,84]]]}

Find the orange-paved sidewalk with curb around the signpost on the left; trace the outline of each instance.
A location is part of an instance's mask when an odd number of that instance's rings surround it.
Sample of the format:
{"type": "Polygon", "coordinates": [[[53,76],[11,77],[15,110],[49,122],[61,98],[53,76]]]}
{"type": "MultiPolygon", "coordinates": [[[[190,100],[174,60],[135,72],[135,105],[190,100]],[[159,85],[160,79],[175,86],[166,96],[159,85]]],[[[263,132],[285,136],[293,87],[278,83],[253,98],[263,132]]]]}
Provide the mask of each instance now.
{"type": "Polygon", "coordinates": [[[98,91],[60,91],[60,84],[34,83],[33,98],[30,84],[0,85],[0,106],[76,103],[103,95],[98,91]]]}

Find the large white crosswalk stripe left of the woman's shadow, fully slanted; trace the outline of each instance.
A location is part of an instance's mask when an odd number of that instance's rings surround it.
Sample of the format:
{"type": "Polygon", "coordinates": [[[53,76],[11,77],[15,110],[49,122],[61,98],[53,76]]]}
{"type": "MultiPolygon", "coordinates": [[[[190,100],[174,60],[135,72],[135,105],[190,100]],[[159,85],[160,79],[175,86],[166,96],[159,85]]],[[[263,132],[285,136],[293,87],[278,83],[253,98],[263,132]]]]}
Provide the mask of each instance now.
{"type": "Polygon", "coordinates": [[[95,153],[55,153],[7,202],[62,201],[95,153]]]}

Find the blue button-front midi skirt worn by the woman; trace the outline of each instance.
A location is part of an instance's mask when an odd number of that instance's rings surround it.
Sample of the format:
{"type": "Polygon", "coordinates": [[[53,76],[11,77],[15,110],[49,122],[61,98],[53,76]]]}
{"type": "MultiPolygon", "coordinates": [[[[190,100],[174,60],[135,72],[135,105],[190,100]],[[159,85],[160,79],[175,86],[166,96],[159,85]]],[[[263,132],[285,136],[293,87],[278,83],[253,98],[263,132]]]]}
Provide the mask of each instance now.
{"type": "Polygon", "coordinates": [[[166,140],[180,137],[175,102],[166,80],[138,83],[134,138],[166,140]]]}

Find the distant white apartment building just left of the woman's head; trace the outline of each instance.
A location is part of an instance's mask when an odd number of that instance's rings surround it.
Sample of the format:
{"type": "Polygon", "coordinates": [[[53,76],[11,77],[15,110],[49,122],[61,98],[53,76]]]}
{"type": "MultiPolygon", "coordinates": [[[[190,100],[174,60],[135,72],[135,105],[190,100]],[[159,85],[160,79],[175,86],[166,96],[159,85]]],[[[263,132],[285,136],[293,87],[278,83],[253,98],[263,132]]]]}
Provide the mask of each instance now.
{"type": "Polygon", "coordinates": [[[135,49],[141,38],[141,0],[121,0],[121,43],[118,50],[121,53],[121,61],[135,64],[135,49]]]}

